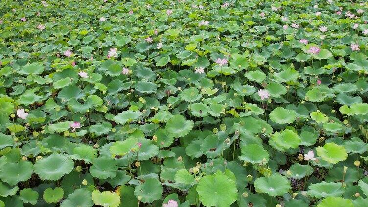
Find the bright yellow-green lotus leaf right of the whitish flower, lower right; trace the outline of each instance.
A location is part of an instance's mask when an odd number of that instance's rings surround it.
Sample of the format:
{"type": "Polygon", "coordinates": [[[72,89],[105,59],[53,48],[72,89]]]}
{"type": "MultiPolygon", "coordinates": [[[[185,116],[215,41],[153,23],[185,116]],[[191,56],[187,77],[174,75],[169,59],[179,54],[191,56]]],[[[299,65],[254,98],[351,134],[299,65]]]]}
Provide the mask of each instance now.
{"type": "Polygon", "coordinates": [[[340,161],[346,160],[347,158],[345,148],[333,142],[326,143],[323,147],[317,147],[316,151],[317,155],[320,156],[322,160],[325,160],[330,164],[336,164],[340,161]]]}

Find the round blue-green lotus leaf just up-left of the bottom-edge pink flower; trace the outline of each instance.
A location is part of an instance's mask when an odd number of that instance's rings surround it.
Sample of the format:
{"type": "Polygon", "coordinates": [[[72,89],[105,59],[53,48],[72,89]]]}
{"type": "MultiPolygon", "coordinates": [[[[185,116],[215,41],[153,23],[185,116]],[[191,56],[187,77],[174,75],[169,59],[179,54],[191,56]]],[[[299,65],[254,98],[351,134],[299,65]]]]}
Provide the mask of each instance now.
{"type": "Polygon", "coordinates": [[[162,197],[163,187],[161,182],[154,178],[145,180],[144,183],[136,186],[134,195],[143,203],[151,203],[162,197]]]}

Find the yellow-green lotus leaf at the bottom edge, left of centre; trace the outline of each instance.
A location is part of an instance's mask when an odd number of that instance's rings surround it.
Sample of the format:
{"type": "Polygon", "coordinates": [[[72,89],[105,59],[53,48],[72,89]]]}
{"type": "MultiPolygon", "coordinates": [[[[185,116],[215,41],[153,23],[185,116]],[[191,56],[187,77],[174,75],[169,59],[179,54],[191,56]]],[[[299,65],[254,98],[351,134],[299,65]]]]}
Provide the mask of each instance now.
{"type": "Polygon", "coordinates": [[[92,200],[94,204],[103,207],[118,207],[120,204],[119,194],[112,191],[103,191],[101,193],[99,190],[94,190],[92,192],[92,200]]]}

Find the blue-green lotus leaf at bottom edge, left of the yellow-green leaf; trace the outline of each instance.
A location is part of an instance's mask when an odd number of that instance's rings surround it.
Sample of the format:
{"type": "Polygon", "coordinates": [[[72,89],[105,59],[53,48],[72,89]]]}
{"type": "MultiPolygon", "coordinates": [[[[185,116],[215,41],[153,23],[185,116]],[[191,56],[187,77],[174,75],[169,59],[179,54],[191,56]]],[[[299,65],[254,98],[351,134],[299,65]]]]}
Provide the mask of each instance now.
{"type": "Polygon", "coordinates": [[[92,207],[93,201],[91,192],[87,189],[76,189],[63,200],[60,207],[92,207]],[[83,198],[83,199],[81,199],[83,198]]]}

